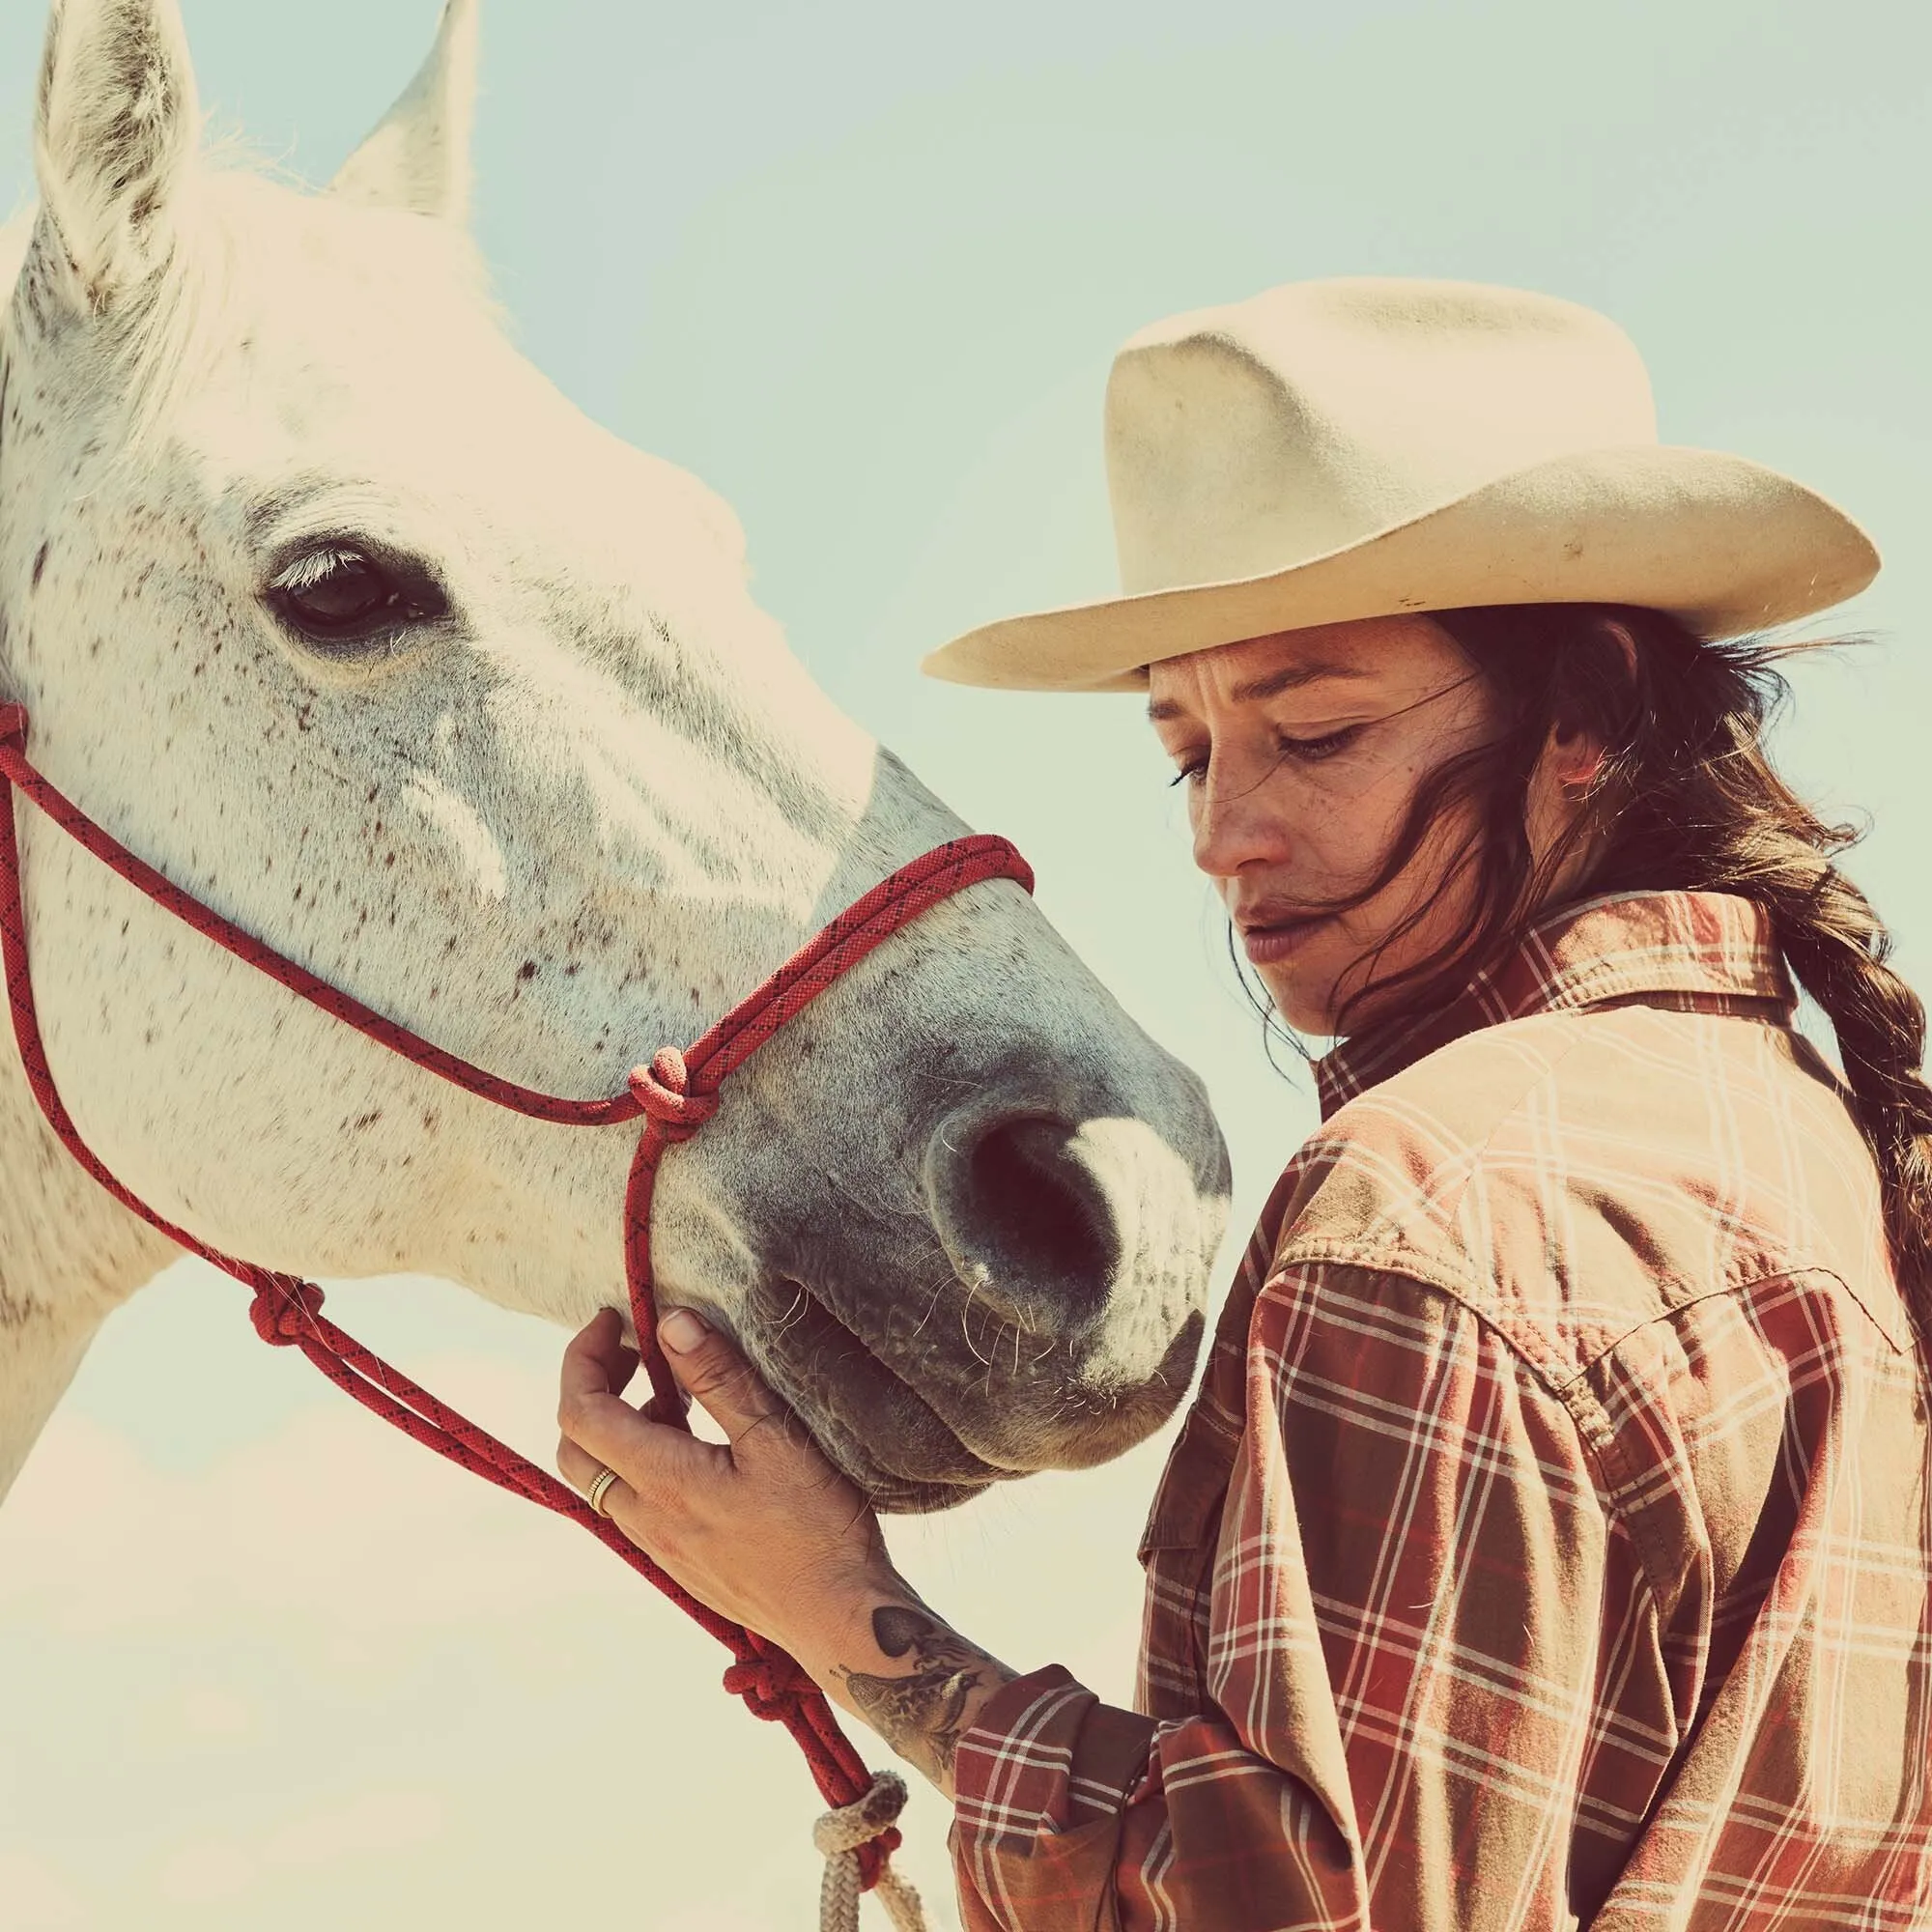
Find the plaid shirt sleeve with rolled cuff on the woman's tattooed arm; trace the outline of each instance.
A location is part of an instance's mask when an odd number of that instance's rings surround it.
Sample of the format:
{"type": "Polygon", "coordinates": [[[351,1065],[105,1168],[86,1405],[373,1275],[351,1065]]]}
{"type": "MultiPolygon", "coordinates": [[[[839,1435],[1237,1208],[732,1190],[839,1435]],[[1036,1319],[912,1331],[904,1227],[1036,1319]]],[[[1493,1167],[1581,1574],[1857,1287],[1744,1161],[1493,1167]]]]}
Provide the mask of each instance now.
{"type": "Polygon", "coordinates": [[[1679,1733],[1638,1551],[1565,1403],[1453,1296],[1256,1302],[1194,1716],[1007,1685],[956,1758],[968,1932],[1588,1920],[1679,1733]]]}

